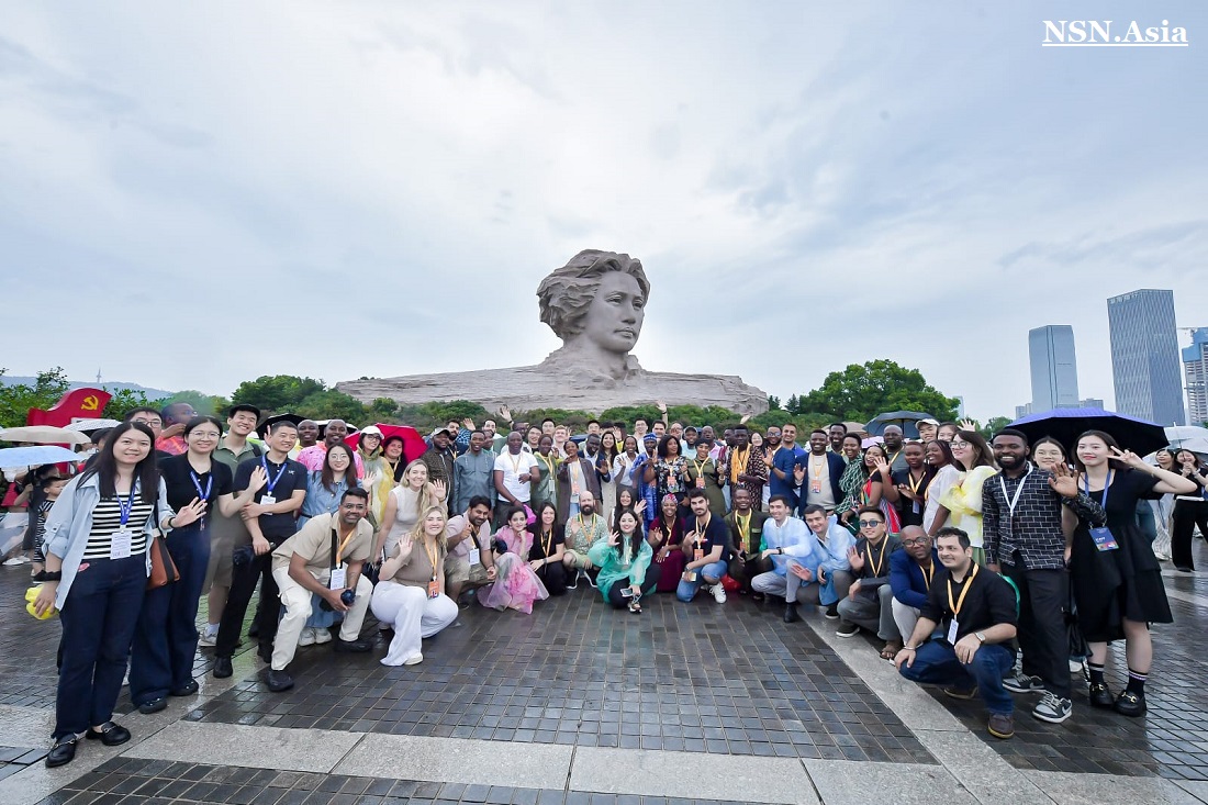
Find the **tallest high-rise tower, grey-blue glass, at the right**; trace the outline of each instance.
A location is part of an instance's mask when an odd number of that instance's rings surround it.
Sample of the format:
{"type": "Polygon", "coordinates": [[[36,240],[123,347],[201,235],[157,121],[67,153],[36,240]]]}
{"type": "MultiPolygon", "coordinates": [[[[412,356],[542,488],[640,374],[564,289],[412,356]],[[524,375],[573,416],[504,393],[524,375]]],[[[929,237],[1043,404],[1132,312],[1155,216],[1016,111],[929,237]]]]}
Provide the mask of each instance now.
{"type": "Polygon", "coordinates": [[[1161,425],[1183,424],[1174,291],[1143,289],[1108,300],[1116,410],[1161,425]]]}

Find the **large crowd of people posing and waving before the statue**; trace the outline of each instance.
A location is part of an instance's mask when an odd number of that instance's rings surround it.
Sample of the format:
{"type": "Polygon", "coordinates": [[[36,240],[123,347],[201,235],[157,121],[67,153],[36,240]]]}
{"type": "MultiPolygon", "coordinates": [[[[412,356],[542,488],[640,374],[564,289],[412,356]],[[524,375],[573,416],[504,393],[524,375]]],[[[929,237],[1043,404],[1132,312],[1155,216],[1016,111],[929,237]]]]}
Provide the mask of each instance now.
{"type": "Polygon", "coordinates": [[[464,421],[407,454],[401,436],[339,419],[137,410],[79,471],[23,479],[33,609],[62,624],[46,763],[69,763],[81,735],[129,740],[112,720],[127,667],[141,713],[197,693],[198,647],[231,676],[257,587],[248,636],[273,691],[294,685],[300,648],[374,650],[366,613],[381,661],[412,666],[459,607],[529,614],[585,584],[632,615],[657,592],[672,606],[748,596],[785,624],[817,607],[838,637],[873,636],[907,679],[980,695],[1000,739],[1014,695],[1036,696],[1039,719],[1070,718],[1071,660],[1086,660],[1092,706],[1143,714],[1149,625],[1172,621],[1160,557],[1191,569],[1194,529],[1208,534],[1200,459],[1146,463],[1097,430],[1067,446],[914,425],[906,439],[834,423],[798,444],[791,423],[718,433],[666,413],[577,435],[464,421]],[[163,548],[175,580],[156,583],[163,548]],[[1119,693],[1104,677],[1115,641],[1119,693]]]}

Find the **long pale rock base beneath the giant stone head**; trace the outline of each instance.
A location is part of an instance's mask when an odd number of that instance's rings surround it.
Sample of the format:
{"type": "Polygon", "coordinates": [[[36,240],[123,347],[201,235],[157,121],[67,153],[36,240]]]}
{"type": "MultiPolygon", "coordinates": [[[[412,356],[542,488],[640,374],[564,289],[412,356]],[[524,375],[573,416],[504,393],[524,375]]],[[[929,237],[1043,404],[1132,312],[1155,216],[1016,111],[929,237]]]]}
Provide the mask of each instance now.
{"type": "MultiPolygon", "coordinates": [[[[548,361],[547,361],[548,363],[548,361]]],[[[599,413],[625,405],[718,405],[738,413],[767,411],[767,394],[733,375],[676,375],[639,370],[623,380],[565,372],[546,364],[472,372],[347,381],[336,388],[362,402],[389,398],[403,405],[471,400],[496,411],[569,409],[599,413]]]]}

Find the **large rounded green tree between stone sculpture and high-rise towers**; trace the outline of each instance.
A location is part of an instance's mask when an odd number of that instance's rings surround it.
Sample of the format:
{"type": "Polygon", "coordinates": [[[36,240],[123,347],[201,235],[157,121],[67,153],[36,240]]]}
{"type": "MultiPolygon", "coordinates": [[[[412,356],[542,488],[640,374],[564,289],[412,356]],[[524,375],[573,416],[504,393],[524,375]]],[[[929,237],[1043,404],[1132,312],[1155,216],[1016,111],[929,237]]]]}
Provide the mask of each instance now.
{"type": "Polygon", "coordinates": [[[852,364],[831,372],[823,384],[800,400],[802,415],[867,422],[888,411],[922,411],[953,419],[958,401],[931,387],[917,369],[892,360],[852,364]]]}

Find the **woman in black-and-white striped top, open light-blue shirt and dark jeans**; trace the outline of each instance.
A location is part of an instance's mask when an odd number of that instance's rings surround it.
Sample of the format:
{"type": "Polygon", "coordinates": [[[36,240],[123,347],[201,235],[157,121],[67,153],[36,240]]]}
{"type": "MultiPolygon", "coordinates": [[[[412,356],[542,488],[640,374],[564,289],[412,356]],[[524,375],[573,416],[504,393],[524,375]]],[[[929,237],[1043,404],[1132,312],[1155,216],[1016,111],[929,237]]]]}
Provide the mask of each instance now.
{"type": "Polygon", "coordinates": [[[47,581],[34,607],[39,614],[58,607],[63,620],[47,766],[70,763],[81,732],[105,746],[130,739],[111,719],[150,573],[147,540],[156,526],[187,526],[205,510],[197,500],[172,510],[153,441],[141,423],[114,428],[97,463],[68,483],[46,521],[47,581]]]}

